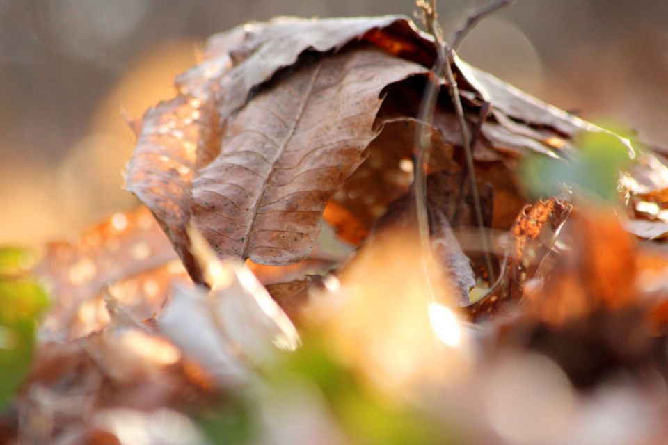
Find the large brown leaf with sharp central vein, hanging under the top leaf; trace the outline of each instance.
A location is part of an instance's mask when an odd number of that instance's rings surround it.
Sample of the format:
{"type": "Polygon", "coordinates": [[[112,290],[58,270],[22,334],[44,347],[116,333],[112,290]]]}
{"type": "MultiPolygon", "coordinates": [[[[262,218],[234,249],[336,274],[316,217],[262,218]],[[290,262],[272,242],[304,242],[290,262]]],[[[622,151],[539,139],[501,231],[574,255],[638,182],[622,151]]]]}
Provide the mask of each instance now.
{"type": "Polygon", "coordinates": [[[193,181],[193,225],[221,258],[290,264],[310,252],[328,198],[379,133],[381,90],[424,68],[372,48],[305,60],[226,122],[193,181]]]}

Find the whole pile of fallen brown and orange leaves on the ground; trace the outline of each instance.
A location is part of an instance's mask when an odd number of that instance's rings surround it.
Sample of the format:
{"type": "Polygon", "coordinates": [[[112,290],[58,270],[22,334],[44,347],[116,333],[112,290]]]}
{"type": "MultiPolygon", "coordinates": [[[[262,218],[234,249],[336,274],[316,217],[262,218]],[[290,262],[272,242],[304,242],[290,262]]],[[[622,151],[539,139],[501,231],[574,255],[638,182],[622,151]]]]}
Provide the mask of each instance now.
{"type": "Polygon", "coordinates": [[[665,159],[455,57],[475,202],[444,79],[417,119],[435,60],[401,16],[209,38],[138,127],[145,207],[0,254],[0,437],[663,443],[665,159]]]}

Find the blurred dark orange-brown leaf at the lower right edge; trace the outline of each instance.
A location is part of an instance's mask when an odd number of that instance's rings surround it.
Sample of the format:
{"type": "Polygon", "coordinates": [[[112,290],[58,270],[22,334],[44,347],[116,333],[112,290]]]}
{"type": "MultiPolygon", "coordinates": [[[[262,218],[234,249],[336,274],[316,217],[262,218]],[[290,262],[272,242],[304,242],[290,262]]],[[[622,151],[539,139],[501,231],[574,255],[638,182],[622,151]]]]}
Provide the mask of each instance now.
{"type": "Polygon", "coordinates": [[[610,209],[574,211],[567,250],[501,339],[551,359],[578,387],[612,375],[668,375],[665,253],[625,232],[610,209]]]}

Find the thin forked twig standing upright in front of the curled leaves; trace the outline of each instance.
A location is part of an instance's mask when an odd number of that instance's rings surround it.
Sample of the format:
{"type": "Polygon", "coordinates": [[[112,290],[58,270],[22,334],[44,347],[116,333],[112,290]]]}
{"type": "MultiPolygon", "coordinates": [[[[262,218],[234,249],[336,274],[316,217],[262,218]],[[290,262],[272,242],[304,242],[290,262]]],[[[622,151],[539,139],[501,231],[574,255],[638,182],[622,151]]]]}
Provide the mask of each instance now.
{"type": "MultiPolygon", "coordinates": [[[[494,270],[492,267],[492,260],[489,252],[491,252],[491,243],[488,234],[484,228],[484,221],[482,218],[482,208],[480,205],[480,197],[477,188],[477,178],[473,165],[473,154],[471,147],[470,135],[466,125],[466,118],[464,116],[461,98],[459,97],[459,88],[452,72],[452,60],[454,58],[454,50],[459,47],[462,40],[466,37],[468,32],[475,27],[482,19],[488,15],[495,13],[500,8],[514,3],[514,0],[496,0],[487,5],[481,6],[473,10],[466,19],[463,26],[458,29],[454,35],[452,45],[448,45],[443,40],[443,30],[438,24],[438,13],[436,12],[436,0],[417,0],[417,7],[422,11],[422,20],[427,26],[427,31],[434,36],[436,44],[437,58],[434,68],[432,69],[432,76],[430,76],[427,88],[422,97],[422,104],[420,105],[420,112],[417,115],[418,122],[422,122],[424,126],[431,125],[434,120],[434,111],[436,108],[436,99],[440,90],[439,80],[445,76],[447,81],[448,92],[450,99],[454,106],[454,111],[457,115],[457,122],[459,130],[461,131],[462,147],[466,158],[466,169],[468,171],[468,178],[471,184],[471,193],[473,197],[473,207],[475,209],[476,223],[479,229],[480,238],[483,245],[485,266],[488,270],[490,282],[494,282],[494,270]]],[[[420,245],[422,250],[427,252],[429,249],[429,216],[427,214],[427,168],[429,163],[429,153],[431,152],[431,134],[427,135],[426,131],[418,131],[415,141],[417,145],[417,156],[415,159],[415,207],[417,213],[417,227],[420,234],[420,245]]]]}

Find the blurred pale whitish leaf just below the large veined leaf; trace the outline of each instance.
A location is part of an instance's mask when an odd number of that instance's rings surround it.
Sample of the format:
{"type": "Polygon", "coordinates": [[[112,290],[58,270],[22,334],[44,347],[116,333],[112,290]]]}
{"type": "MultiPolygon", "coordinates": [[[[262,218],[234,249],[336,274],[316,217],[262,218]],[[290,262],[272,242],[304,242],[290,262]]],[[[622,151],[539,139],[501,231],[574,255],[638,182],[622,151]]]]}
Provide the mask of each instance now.
{"type": "Polygon", "coordinates": [[[250,378],[252,365],[276,348],[294,350],[299,334],[244,264],[222,263],[200,234],[191,229],[189,237],[211,290],[178,286],[158,318],[159,329],[218,385],[240,385],[250,378]]]}

